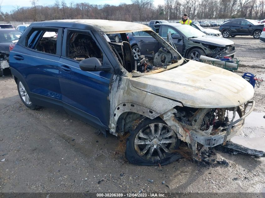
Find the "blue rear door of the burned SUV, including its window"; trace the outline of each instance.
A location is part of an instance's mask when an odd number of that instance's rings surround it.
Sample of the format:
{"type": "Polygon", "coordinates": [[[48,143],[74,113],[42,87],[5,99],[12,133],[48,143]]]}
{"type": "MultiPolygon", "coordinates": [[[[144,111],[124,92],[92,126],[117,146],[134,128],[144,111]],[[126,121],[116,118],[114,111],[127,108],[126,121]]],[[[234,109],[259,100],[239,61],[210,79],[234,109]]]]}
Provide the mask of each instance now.
{"type": "Polygon", "coordinates": [[[10,56],[12,68],[17,70],[29,88],[32,101],[43,100],[42,106],[61,105],[59,59],[61,28],[34,28],[25,46],[17,45],[10,56]]]}

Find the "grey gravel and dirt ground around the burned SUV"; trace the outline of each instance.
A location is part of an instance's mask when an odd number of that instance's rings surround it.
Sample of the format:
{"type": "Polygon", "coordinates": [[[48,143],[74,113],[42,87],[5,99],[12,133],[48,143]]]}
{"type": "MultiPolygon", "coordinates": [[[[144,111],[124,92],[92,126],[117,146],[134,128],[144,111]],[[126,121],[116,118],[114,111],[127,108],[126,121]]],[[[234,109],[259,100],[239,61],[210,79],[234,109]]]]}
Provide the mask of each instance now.
{"type": "MultiPolygon", "coordinates": [[[[265,45],[251,36],[231,38],[241,60],[239,75],[265,79],[265,45]]],[[[231,84],[231,86],[233,86],[231,84]]],[[[265,82],[255,88],[254,121],[242,137],[265,137],[265,82]],[[258,121],[261,120],[260,122],[258,121]]],[[[0,192],[261,192],[265,159],[217,151],[229,166],[200,166],[187,159],[136,166],[115,155],[119,138],[53,109],[27,109],[12,77],[0,78],[0,192]],[[153,183],[148,179],[154,180],[153,183]],[[165,184],[162,184],[165,181],[165,184]]]]}

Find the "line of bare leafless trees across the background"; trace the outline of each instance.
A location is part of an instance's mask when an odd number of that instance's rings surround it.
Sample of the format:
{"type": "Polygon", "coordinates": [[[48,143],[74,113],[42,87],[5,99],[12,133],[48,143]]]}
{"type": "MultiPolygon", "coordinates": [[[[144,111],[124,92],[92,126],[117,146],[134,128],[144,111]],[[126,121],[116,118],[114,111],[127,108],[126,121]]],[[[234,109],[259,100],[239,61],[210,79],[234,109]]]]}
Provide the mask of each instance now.
{"type": "Polygon", "coordinates": [[[215,18],[265,18],[265,0],[165,0],[154,6],[153,0],[131,0],[130,4],[96,5],[90,3],[66,3],[55,0],[53,5],[43,6],[38,0],[31,7],[15,6],[3,12],[0,5],[0,21],[43,21],[56,19],[107,19],[118,21],[150,21],[153,19],[179,20],[183,13],[190,19],[215,18]]]}

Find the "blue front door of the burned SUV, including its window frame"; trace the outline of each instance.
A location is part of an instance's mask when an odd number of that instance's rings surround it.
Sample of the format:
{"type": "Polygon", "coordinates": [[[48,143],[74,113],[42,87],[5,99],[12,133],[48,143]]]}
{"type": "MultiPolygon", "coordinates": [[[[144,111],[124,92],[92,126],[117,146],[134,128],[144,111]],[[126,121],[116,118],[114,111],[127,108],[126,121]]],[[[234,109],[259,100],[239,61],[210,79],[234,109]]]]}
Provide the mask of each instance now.
{"type": "Polygon", "coordinates": [[[79,62],[90,57],[98,58],[102,65],[111,65],[92,32],[65,29],[60,58],[64,108],[89,124],[107,129],[110,110],[108,98],[113,74],[82,71],[79,62]]]}

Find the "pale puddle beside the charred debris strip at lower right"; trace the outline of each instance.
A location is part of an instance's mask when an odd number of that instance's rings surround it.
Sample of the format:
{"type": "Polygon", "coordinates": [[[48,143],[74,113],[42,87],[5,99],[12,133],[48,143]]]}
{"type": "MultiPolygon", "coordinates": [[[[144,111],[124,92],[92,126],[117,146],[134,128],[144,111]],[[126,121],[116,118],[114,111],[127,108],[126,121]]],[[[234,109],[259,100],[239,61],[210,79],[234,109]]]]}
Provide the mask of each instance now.
{"type": "Polygon", "coordinates": [[[245,138],[235,136],[231,138],[231,141],[250,149],[256,149],[265,152],[265,137],[245,138]]]}

